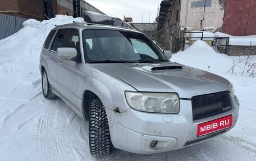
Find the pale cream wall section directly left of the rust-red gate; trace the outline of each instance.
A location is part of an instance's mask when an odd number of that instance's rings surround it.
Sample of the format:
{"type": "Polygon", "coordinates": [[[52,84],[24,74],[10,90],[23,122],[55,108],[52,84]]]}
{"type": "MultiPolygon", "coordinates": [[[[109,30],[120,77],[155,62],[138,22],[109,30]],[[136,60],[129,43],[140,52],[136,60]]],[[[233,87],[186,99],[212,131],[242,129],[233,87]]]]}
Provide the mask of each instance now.
{"type": "Polygon", "coordinates": [[[182,0],[180,11],[181,26],[192,27],[192,29],[213,26],[216,30],[223,24],[224,10],[218,0],[182,0]],[[205,15],[204,2],[206,2],[205,15]],[[201,20],[203,20],[202,27],[201,20]]]}

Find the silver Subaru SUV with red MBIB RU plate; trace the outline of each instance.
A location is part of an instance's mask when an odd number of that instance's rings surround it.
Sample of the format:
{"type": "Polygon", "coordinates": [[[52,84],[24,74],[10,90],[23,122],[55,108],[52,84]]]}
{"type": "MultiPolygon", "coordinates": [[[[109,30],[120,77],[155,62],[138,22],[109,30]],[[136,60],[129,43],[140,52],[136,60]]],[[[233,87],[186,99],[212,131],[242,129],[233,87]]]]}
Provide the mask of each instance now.
{"type": "Polygon", "coordinates": [[[170,62],[147,36],[106,25],[56,26],[40,55],[43,95],[89,120],[90,153],[181,149],[234,127],[228,80],[170,62]]]}

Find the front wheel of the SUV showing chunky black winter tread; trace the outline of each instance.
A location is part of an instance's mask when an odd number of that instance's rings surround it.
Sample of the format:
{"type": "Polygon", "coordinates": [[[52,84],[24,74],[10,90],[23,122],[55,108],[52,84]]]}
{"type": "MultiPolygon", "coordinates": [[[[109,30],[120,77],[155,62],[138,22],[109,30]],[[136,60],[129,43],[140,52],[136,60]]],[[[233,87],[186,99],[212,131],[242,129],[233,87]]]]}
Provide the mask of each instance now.
{"type": "Polygon", "coordinates": [[[106,157],[112,153],[107,114],[99,99],[94,99],[90,105],[89,144],[94,156],[106,157]]]}

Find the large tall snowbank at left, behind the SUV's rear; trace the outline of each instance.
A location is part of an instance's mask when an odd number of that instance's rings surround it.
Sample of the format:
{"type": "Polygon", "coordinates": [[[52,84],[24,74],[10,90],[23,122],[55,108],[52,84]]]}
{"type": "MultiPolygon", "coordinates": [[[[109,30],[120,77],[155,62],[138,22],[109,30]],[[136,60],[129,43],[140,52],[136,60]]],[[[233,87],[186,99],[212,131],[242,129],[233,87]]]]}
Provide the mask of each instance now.
{"type": "Polygon", "coordinates": [[[39,56],[44,40],[54,25],[72,21],[84,20],[63,15],[42,22],[30,19],[23,29],[0,40],[0,127],[8,114],[41,91],[39,56]]]}

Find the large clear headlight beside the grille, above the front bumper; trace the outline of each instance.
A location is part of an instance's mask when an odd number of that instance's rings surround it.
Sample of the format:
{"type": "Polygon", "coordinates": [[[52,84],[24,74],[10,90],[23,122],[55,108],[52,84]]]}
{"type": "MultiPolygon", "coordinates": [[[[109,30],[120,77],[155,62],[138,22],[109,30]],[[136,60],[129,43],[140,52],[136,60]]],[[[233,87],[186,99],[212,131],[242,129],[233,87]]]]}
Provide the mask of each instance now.
{"type": "Polygon", "coordinates": [[[138,111],[179,113],[180,100],[176,93],[147,93],[125,91],[127,103],[138,111]]]}

